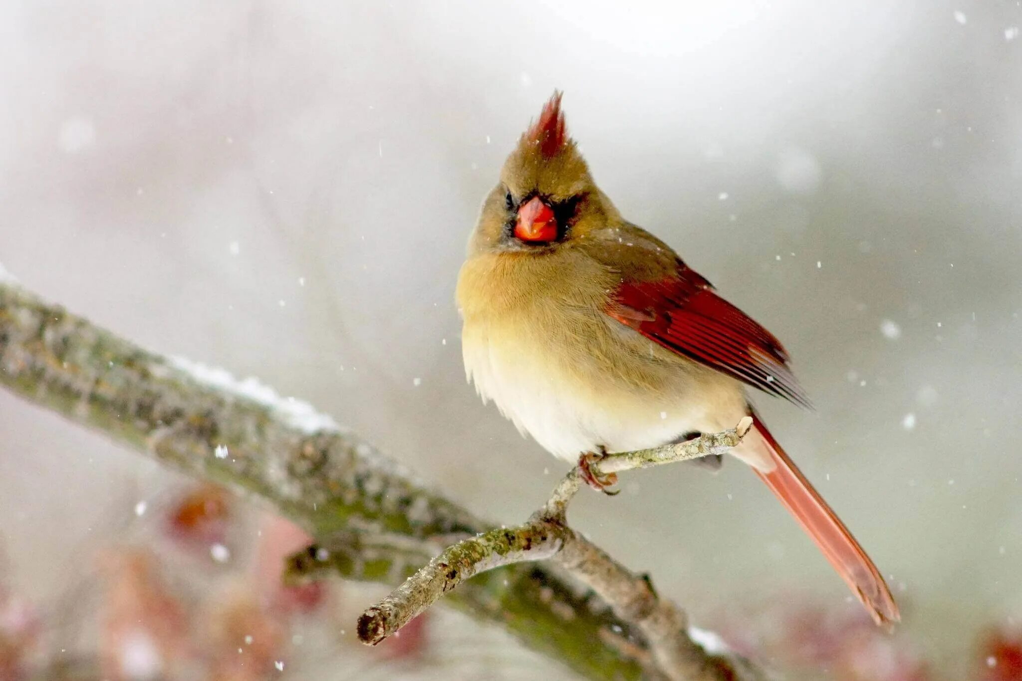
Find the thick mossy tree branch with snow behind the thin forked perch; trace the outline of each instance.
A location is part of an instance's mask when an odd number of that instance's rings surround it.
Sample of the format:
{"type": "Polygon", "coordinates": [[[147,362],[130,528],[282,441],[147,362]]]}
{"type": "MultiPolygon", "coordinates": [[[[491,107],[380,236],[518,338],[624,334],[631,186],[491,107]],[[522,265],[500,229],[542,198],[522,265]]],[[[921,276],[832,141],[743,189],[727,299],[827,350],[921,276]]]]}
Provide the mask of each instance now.
{"type": "MultiPolygon", "coordinates": [[[[309,404],[148,352],[40,300],[2,269],[0,385],[272,506],[335,548],[314,550],[312,563],[352,579],[398,583],[437,537],[492,528],[309,404]]],[[[562,546],[562,555],[573,553],[562,546]]],[[[589,678],[659,676],[641,628],[556,569],[516,563],[482,572],[448,602],[589,678]]]]}

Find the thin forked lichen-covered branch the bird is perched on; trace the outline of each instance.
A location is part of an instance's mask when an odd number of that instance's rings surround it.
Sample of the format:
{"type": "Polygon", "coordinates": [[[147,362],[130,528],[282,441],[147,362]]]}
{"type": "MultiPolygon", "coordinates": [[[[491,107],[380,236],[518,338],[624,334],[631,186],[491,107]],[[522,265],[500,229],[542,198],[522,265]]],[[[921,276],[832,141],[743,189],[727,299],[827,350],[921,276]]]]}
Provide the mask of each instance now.
{"type": "MultiPolygon", "coordinates": [[[[671,460],[725,453],[752,426],[742,419],[734,429],[702,435],[683,444],[613,454],[593,465],[597,475],[645,468],[671,460]],[[602,465],[609,464],[608,471],[602,465]],[[598,468],[599,467],[599,468],[598,468]]],[[[476,535],[444,549],[386,598],[359,619],[359,638],[371,645],[453,591],[470,577],[509,565],[553,560],[610,604],[622,620],[645,636],[652,660],[664,677],[676,681],[735,681],[760,678],[746,661],[723,647],[706,650],[693,640],[685,614],[653,591],[650,580],[630,572],[601,548],[567,526],[567,505],[582,475],[572,469],[550,499],[523,525],[476,535]]]]}

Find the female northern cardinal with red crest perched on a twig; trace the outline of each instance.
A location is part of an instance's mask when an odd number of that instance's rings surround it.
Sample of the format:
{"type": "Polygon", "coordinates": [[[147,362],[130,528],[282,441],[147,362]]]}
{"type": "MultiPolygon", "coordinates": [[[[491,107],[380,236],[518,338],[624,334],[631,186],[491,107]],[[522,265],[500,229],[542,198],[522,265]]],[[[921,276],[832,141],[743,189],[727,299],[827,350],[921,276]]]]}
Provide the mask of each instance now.
{"type": "MultiPolygon", "coordinates": [[[[465,369],[483,400],[584,469],[603,452],[734,427],[753,414],[743,384],[807,404],[781,343],[621,217],[568,138],[560,103],[555,93],[504,163],[459,276],[465,369]]],[[[761,421],[732,453],[877,624],[900,619],[869,556],[761,421]]]]}

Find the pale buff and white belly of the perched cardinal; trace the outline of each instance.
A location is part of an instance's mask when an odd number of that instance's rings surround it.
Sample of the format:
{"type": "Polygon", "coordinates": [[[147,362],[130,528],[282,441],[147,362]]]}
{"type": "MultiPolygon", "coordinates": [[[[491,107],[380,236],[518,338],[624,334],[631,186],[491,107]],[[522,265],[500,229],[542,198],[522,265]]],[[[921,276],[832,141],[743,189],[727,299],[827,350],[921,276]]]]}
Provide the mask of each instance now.
{"type": "Polygon", "coordinates": [[[572,461],[732,428],[744,416],[737,382],[616,325],[607,318],[544,330],[535,320],[467,319],[465,369],[523,435],[572,461]]]}

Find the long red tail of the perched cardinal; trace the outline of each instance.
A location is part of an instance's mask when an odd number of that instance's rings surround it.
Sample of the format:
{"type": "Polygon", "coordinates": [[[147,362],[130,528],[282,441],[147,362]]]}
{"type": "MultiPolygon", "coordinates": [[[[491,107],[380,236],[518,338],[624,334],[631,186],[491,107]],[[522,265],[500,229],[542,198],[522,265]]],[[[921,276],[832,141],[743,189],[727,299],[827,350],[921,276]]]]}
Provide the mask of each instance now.
{"type": "MultiPolygon", "coordinates": [[[[812,537],[812,541],[817,542],[837,574],[869,611],[874,622],[887,628],[894,622],[899,622],[901,615],[894,597],[870,556],[758,419],[755,431],[761,436],[761,444],[764,446],[757,446],[760,443],[755,441],[749,444],[757,449],[765,449],[774,463],[774,470],[770,473],[753,467],[756,475],[812,537]]],[[[755,434],[749,433],[751,437],[746,441],[758,439],[755,434]]]]}

